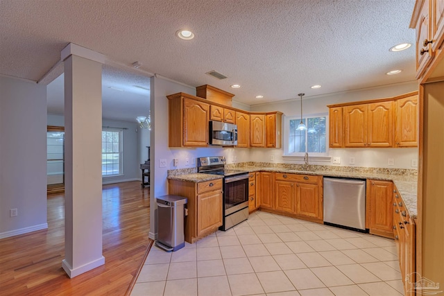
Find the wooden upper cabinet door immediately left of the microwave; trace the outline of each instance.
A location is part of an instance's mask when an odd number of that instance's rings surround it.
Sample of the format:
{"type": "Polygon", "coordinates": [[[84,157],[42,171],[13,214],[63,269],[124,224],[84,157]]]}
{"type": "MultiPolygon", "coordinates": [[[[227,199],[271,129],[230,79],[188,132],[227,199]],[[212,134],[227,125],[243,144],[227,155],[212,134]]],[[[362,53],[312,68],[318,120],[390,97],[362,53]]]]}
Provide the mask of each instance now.
{"type": "Polygon", "coordinates": [[[210,105],[183,99],[183,146],[208,145],[210,105]]]}

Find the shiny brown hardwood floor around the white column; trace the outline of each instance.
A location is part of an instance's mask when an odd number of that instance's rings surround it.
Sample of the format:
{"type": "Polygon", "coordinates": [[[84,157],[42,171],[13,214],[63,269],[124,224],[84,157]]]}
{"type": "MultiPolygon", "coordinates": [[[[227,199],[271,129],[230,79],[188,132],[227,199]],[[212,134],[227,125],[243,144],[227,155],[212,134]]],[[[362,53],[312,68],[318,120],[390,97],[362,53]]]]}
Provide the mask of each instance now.
{"type": "Polygon", "coordinates": [[[125,295],[152,241],[149,188],[140,182],[103,186],[105,265],[69,279],[65,258],[65,199],[48,196],[48,229],[0,240],[0,294],[125,295]]]}

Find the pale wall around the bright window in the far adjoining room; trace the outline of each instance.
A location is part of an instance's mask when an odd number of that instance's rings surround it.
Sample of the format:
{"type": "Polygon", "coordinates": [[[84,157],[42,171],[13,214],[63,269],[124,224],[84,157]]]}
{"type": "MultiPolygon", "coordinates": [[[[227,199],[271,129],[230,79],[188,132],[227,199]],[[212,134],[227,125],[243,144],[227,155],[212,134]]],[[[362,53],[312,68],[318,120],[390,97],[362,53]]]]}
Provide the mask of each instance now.
{"type": "MultiPolygon", "coordinates": [[[[65,126],[65,118],[62,115],[48,114],[48,125],[65,126]]],[[[103,177],[102,184],[142,180],[139,160],[139,135],[140,128],[137,122],[112,121],[103,119],[102,125],[112,128],[126,128],[123,130],[123,175],[117,177],[103,177]],[[137,131],[136,131],[137,130],[137,131]]],[[[146,153],[146,148],[145,148],[146,153]]],[[[145,159],[146,160],[146,159],[145,159]]],[[[143,162],[142,162],[143,163],[143,162]]]]}

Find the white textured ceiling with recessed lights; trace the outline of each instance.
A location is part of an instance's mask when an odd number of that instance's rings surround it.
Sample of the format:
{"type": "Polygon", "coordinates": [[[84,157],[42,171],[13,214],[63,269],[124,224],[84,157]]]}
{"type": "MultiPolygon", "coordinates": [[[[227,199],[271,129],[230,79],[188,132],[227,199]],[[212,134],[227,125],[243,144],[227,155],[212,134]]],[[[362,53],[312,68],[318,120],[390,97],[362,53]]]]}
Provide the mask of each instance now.
{"type": "MultiPolygon", "coordinates": [[[[414,43],[408,28],[414,2],[0,0],[0,73],[40,80],[73,42],[121,69],[139,61],[141,75],[213,85],[248,105],[389,85],[414,80],[414,46],[388,51],[414,43]],[[178,39],[180,28],[196,37],[178,39]],[[402,73],[385,75],[393,69],[402,73]],[[211,70],[228,78],[207,76],[211,70]],[[241,88],[230,88],[234,83],[241,88]],[[310,89],[316,84],[321,89],[310,89]]],[[[116,85],[125,81],[121,71],[109,70],[116,85]]]]}

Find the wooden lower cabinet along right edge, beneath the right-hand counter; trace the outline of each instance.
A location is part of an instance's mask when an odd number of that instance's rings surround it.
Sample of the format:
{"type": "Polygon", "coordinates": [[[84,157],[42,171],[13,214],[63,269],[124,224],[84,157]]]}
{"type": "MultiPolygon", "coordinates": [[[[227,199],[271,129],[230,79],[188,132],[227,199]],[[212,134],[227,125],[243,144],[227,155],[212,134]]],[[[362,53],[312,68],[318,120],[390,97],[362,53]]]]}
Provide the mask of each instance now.
{"type": "Polygon", "coordinates": [[[404,201],[398,190],[393,189],[393,235],[398,246],[398,259],[402,283],[404,284],[404,295],[413,296],[416,279],[416,227],[415,222],[410,218],[404,201]]]}

